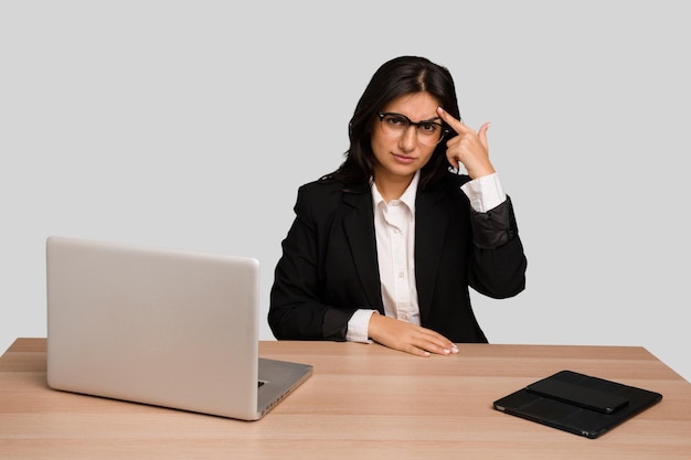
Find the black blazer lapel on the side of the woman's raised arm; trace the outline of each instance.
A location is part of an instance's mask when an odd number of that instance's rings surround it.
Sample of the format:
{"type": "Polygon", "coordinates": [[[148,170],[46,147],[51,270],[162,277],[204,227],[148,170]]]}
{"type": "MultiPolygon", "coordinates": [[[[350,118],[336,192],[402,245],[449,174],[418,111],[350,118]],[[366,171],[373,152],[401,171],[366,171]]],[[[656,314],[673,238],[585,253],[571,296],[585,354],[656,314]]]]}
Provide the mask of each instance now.
{"type": "Polygon", "coordinates": [[[417,191],[415,203],[415,278],[421,317],[432,308],[434,284],[442,259],[444,237],[448,225],[448,212],[444,197],[437,189],[417,191]]]}

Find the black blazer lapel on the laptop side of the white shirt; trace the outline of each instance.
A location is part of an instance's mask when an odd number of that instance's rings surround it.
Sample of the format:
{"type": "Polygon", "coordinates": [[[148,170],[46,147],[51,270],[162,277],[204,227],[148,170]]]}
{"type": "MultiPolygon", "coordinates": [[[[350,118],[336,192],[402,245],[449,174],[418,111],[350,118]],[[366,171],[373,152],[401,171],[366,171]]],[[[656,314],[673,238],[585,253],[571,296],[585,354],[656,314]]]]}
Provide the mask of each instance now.
{"type": "Polygon", "coordinates": [[[370,193],[346,193],[343,203],[351,206],[350,212],[343,217],[343,229],[351,248],[360,284],[370,307],[375,307],[383,314],[384,304],[382,303],[379,280],[372,195],[370,193]]]}

